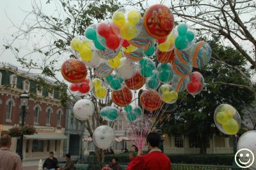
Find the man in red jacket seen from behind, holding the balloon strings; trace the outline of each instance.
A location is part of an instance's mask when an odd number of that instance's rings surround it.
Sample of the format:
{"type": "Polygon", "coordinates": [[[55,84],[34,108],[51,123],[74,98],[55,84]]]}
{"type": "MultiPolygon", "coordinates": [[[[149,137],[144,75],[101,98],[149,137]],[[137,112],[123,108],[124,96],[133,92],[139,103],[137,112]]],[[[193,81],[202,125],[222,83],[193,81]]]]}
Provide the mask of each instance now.
{"type": "Polygon", "coordinates": [[[171,162],[161,150],[159,150],[159,144],[161,142],[161,136],[156,132],[150,132],[147,135],[148,149],[150,152],[148,154],[142,155],[142,151],[138,151],[137,157],[135,157],[127,166],[127,170],[170,170],[171,162]]]}

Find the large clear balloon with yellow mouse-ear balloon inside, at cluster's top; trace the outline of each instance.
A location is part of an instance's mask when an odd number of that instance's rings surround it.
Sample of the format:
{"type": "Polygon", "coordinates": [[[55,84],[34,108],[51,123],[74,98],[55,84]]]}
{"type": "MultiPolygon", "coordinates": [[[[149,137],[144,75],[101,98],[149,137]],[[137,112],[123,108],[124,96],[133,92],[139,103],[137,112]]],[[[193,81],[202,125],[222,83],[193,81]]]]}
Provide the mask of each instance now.
{"type": "Polygon", "coordinates": [[[116,35],[124,40],[132,40],[141,31],[143,19],[133,6],[125,6],[116,10],[112,16],[112,28],[116,35]]]}

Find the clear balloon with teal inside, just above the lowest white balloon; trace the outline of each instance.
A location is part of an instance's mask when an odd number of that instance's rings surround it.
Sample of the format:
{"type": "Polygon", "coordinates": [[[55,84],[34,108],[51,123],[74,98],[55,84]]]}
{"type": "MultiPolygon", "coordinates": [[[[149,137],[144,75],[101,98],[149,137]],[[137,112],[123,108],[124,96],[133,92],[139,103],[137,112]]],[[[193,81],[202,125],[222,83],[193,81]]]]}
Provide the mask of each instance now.
{"type": "Polygon", "coordinates": [[[119,115],[118,110],[113,106],[106,106],[100,110],[100,117],[107,121],[115,121],[119,115]]]}

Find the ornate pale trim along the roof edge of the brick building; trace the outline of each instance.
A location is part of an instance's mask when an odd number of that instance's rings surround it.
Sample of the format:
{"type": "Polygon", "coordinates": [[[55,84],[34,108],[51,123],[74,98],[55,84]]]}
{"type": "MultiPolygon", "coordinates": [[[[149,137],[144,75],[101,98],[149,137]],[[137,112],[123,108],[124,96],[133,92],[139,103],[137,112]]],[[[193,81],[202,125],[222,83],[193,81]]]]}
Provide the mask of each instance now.
{"type": "Polygon", "coordinates": [[[31,78],[34,78],[34,79],[38,79],[38,78],[42,78],[44,79],[45,81],[51,83],[51,84],[54,84],[55,81],[53,80],[50,80],[50,79],[47,79],[47,77],[43,77],[42,75],[40,75],[39,73],[29,73],[28,71],[25,71],[25,70],[21,70],[20,68],[18,68],[17,66],[15,65],[12,65],[10,63],[5,63],[5,62],[0,62],[0,67],[3,67],[3,68],[10,68],[11,70],[17,72],[17,73],[20,73],[21,75],[26,75],[28,77],[31,77],[31,78]]]}

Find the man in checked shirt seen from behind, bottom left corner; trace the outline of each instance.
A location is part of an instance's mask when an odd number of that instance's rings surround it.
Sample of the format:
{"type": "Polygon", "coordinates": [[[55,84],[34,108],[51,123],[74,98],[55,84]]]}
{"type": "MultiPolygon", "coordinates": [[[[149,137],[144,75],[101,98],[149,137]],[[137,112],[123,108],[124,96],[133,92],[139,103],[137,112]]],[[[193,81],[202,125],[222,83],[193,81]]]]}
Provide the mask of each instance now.
{"type": "Polygon", "coordinates": [[[10,150],[11,145],[12,137],[10,135],[2,135],[0,139],[0,170],[23,169],[20,156],[10,150]]]}

